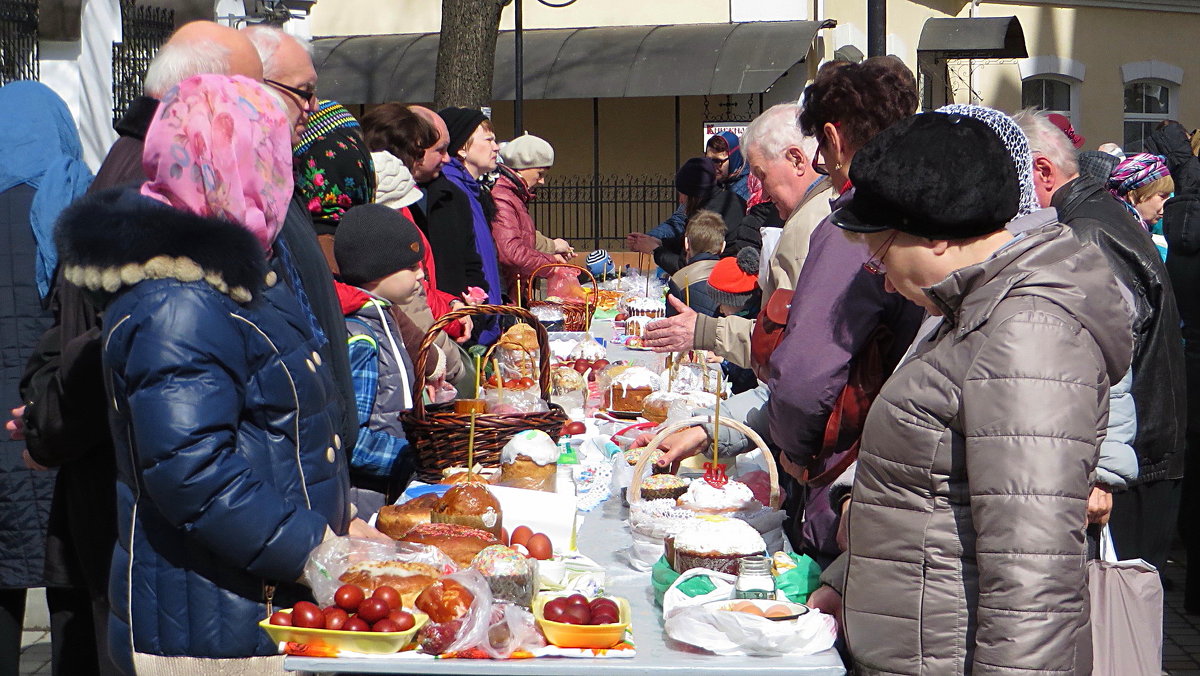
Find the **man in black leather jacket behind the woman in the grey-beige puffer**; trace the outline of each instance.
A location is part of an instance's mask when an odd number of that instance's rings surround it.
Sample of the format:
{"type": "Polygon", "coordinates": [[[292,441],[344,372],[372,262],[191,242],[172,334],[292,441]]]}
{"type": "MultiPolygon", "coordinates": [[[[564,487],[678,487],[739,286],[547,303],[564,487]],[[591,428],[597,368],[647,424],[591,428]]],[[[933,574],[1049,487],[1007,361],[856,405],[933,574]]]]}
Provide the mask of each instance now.
{"type": "Polygon", "coordinates": [[[1106,495],[1097,485],[1090,519],[1103,522],[1111,501],[1112,539],[1121,558],[1166,564],[1180,507],[1187,406],[1180,312],[1166,267],[1150,234],[1092,177],[1081,177],[1075,149],[1044,113],[1018,122],[1033,151],[1033,183],[1042,207],[1082,241],[1104,252],[1112,273],[1134,297],[1133,395],[1138,431],[1138,478],[1128,490],[1106,495]],[[1099,518],[1098,518],[1099,516],[1099,518]]]}

